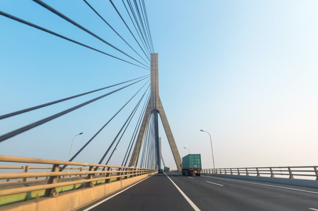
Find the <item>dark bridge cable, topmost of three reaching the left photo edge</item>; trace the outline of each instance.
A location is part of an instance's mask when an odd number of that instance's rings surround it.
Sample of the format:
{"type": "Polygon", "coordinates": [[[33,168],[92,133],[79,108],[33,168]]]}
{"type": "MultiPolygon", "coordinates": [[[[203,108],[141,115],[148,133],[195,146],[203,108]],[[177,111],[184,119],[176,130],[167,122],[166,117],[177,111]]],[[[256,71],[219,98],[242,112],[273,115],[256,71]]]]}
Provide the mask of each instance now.
{"type": "Polygon", "coordinates": [[[24,23],[24,24],[29,25],[29,26],[31,26],[31,27],[40,29],[40,30],[42,30],[42,31],[45,31],[45,32],[50,33],[50,34],[55,35],[55,36],[58,36],[58,37],[60,37],[60,38],[63,38],[63,39],[65,39],[65,40],[68,40],[68,41],[70,41],[70,42],[79,44],[79,45],[81,45],[81,46],[84,46],[84,47],[86,47],[86,48],[92,49],[92,50],[97,51],[97,52],[99,52],[99,53],[105,54],[105,55],[107,55],[107,56],[111,56],[111,57],[113,57],[113,58],[115,58],[115,59],[118,59],[118,60],[127,62],[127,63],[129,63],[129,64],[135,65],[135,66],[137,66],[137,67],[141,67],[141,68],[146,69],[146,70],[150,70],[149,68],[145,68],[145,67],[136,65],[136,64],[134,64],[134,63],[131,63],[131,62],[129,62],[129,61],[123,60],[123,59],[121,59],[121,58],[119,58],[119,57],[113,56],[113,55],[111,55],[111,54],[107,54],[107,53],[105,53],[105,52],[103,52],[103,51],[101,51],[101,50],[98,50],[98,49],[96,49],[96,48],[90,47],[90,46],[85,45],[85,44],[83,44],[83,43],[81,43],[81,42],[77,42],[77,41],[72,40],[72,39],[70,39],[70,38],[68,38],[68,37],[66,37],[66,36],[60,35],[60,34],[58,34],[58,33],[55,33],[55,32],[53,32],[53,31],[51,31],[51,30],[45,29],[45,28],[43,28],[43,27],[40,27],[40,26],[38,26],[38,25],[36,25],[36,24],[27,22],[27,21],[25,21],[25,20],[23,20],[23,19],[20,19],[20,18],[18,18],[18,17],[16,17],[16,16],[12,16],[12,15],[10,15],[10,14],[8,14],[8,13],[3,12],[3,11],[0,11],[0,15],[5,16],[5,17],[8,17],[8,18],[10,18],[10,19],[13,19],[13,20],[15,20],[15,21],[24,23]]]}

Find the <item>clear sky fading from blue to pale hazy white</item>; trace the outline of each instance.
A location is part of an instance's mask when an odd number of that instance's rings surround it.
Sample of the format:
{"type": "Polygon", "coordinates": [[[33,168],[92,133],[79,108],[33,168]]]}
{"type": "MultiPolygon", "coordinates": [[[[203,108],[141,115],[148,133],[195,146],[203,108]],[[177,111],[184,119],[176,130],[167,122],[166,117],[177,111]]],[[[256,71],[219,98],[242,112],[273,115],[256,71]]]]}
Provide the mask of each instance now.
{"type": "MultiPolygon", "coordinates": [[[[44,2],[142,61],[84,1],[44,2]]],[[[88,2],[144,55],[108,1],[88,2]]],[[[114,4],[136,35],[122,2],[114,4]]],[[[317,1],[145,4],[159,57],[159,95],[181,157],[187,147],[201,154],[203,168],[213,167],[210,137],[203,129],[211,134],[216,168],[317,165],[317,1]]],[[[0,10],[136,63],[33,1],[0,1],[0,10]]],[[[4,16],[0,26],[1,115],[150,73],[4,16]]],[[[74,135],[83,132],[74,138],[73,153],[146,82],[3,141],[0,154],[67,160],[74,135]]],[[[146,86],[74,161],[98,163],[146,86]]],[[[115,89],[0,120],[0,133],[115,89]]],[[[111,164],[121,165],[140,109],[111,164]]],[[[161,124],[159,136],[167,164],[173,156],[161,124]]]]}

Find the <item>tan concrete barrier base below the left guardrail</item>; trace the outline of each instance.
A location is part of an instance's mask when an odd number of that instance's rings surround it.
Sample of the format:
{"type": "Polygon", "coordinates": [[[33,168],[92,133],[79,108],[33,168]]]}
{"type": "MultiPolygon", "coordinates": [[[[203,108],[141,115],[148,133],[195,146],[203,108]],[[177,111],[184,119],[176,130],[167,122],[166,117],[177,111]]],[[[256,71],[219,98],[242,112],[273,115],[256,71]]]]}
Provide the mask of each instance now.
{"type": "Polygon", "coordinates": [[[135,176],[120,181],[104,183],[93,188],[82,188],[59,194],[57,197],[42,197],[0,207],[0,211],[66,211],[80,208],[115,191],[125,188],[155,173],[135,176]]]}

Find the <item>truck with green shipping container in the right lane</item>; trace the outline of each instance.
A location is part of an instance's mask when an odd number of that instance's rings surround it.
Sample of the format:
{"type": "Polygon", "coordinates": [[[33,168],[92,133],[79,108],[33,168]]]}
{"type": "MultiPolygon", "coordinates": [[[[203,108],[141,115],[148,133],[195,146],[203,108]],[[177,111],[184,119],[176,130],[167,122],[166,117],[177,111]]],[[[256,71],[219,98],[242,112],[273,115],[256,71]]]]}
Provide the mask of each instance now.
{"type": "Polygon", "coordinates": [[[196,176],[200,176],[202,171],[201,166],[201,154],[189,154],[182,158],[182,175],[192,176],[195,174],[196,176]]]}

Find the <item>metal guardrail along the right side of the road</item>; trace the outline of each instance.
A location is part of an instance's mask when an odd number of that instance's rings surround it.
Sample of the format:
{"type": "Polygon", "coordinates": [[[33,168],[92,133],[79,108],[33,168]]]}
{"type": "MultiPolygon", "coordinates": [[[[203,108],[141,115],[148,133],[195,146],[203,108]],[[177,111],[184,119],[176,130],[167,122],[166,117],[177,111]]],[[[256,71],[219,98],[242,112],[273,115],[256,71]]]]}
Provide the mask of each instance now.
{"type": "Polygon", "coordinates": [[[293,179],[294,176],[315,176],[316,180],[318,180],[317,168],[318,166],[225,168],[225,169],[202,169],[201,173],[230,174],[230,175],[236,174],[236,175],[246,175],[246,176],[270,175],[271,177],[275,177],[275,175],[287,175],[291,179],[293,179]],[[312,168],[313,170],[307,170],[310,168],[312,168]],[[306,174],[308,172],[311,172],[312,174],[306,174]]]}

